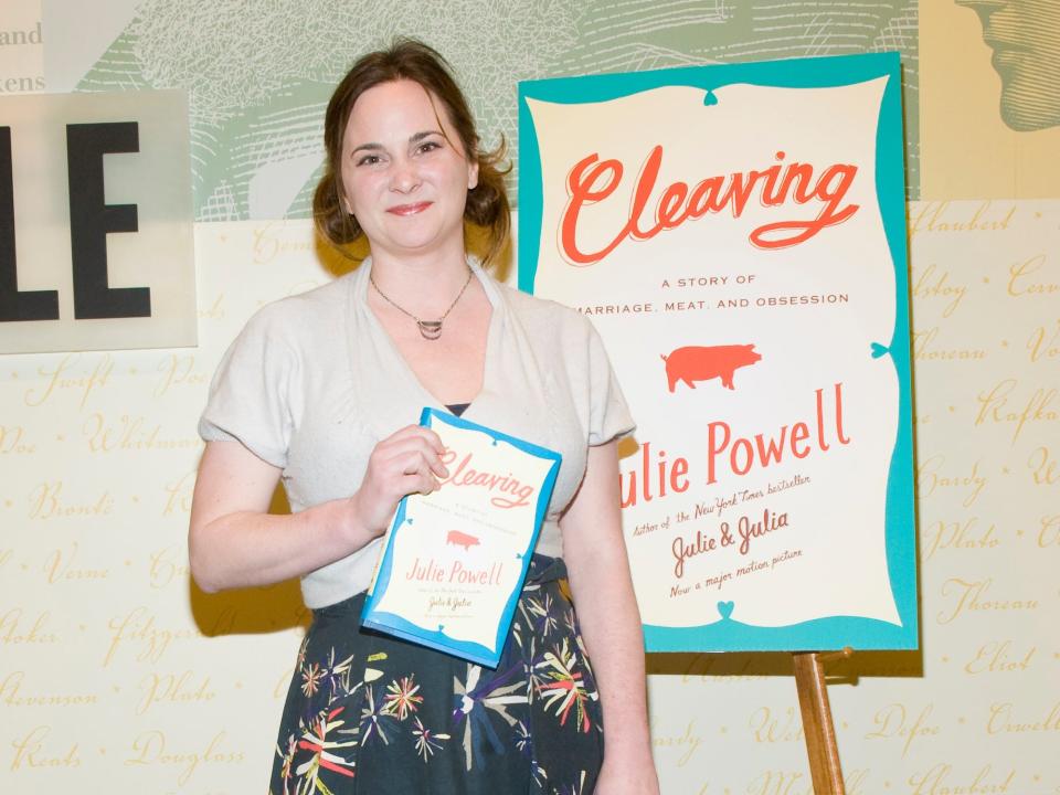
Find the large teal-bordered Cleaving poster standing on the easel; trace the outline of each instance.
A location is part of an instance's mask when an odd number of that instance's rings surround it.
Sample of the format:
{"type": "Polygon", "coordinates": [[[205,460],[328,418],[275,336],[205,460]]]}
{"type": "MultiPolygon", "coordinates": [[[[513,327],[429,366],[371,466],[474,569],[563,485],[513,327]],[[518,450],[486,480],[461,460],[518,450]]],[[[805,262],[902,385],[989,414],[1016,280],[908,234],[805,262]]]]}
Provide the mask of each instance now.
{"type": "Polygon", "coordinates": [[[897,54],[520,84],[520,287],[638,426],[649,650],[913,648],[897,54]]]}

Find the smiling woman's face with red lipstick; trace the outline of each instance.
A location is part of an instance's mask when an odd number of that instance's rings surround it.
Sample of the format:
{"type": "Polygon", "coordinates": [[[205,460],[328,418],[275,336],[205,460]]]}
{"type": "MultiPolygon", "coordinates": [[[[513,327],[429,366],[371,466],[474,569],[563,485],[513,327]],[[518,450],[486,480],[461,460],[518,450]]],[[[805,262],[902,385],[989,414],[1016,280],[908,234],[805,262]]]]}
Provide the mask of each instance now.
{"type": "Polygon", "coordinates": [[[377,256],[463,252],[478,165],[465,157],[445,106],[418,83],[382,83],[358,97],[341,169],[346,209],[377,256]]]}

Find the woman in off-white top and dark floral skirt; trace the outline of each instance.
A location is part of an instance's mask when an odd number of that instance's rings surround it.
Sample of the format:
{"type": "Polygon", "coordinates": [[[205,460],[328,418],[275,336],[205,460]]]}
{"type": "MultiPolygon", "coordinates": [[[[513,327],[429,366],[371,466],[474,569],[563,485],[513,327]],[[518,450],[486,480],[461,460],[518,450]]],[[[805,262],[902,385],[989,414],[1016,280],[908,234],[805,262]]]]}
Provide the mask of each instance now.
{"type": "Polygon", "coordinates": [[[489,229],[487,261],[507,240],[501,152],[479,151],[433,50],[403,41],[354,64],[325,146],[317,226],[336,245],[363,234],[371,256],[265,307],[229,350],[189,540],[203,590],[300,576],[314,608],[272,792],[654,795],[618,516],[615,438],[632,422],[598,337],[468,257],[465,219],[489,229]],[[447,476],[436,434],[409,425],[423,405],[563,454],[496,670],[359,629],[398,501],[447,476]],[[266,512],[280,477],[292,516],[266,512]]]}

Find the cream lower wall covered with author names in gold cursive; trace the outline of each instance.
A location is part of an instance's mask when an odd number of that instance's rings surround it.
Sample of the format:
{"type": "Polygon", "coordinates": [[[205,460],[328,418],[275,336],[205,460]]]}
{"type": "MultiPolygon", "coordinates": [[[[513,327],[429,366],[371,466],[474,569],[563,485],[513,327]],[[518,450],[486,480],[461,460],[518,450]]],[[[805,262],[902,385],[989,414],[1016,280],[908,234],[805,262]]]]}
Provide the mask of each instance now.
{"type": "MultiPolygon", "coordinates": [[[[923,650],[837,669],[848,793],[1060,793],[1058,198],[910,205],[923,650]]],[[[189,585],[194,426],[244,319],[330,274],[304,222],[200,224],[197,259],[198,349],[0,358],[6,793],[265,789],[305,616],[189,585]]],[[[808,795],[789,658],[648,665],[666,795],[808,795]]]]}

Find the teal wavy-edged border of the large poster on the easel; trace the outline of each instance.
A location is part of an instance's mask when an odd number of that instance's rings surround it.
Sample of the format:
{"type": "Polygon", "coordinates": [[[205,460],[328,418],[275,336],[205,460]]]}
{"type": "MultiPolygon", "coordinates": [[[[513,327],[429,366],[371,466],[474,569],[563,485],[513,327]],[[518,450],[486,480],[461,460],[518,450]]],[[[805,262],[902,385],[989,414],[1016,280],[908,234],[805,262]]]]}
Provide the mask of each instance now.
{"type": "MultiPolygon", "coordinates": [[[[653,72],[559,77],[519,84],[519,288],[533,293],[541,240],[541,153],[527,99],[598,103],[664,86],[711,92],[734,83],[781,88],[826,88],[888,77],[876,134],[876,190],[894,265],[894,328],[886,351],[899,379],[898,435],[887,483],[887,565],[901,624],[836,615],[788,626],[732,621],[719,603],[717,619],[689,627],[646,624],[648,651],[794,651],[851,646],[914,649],[919,646],[916,532],[913,505],[912,382],[905,233],[905,168],[899,53],[869,53],[760,63],[689,66],[653,72]]],[[[866,356],[870,356],[866,351],[866,356]]]]}

